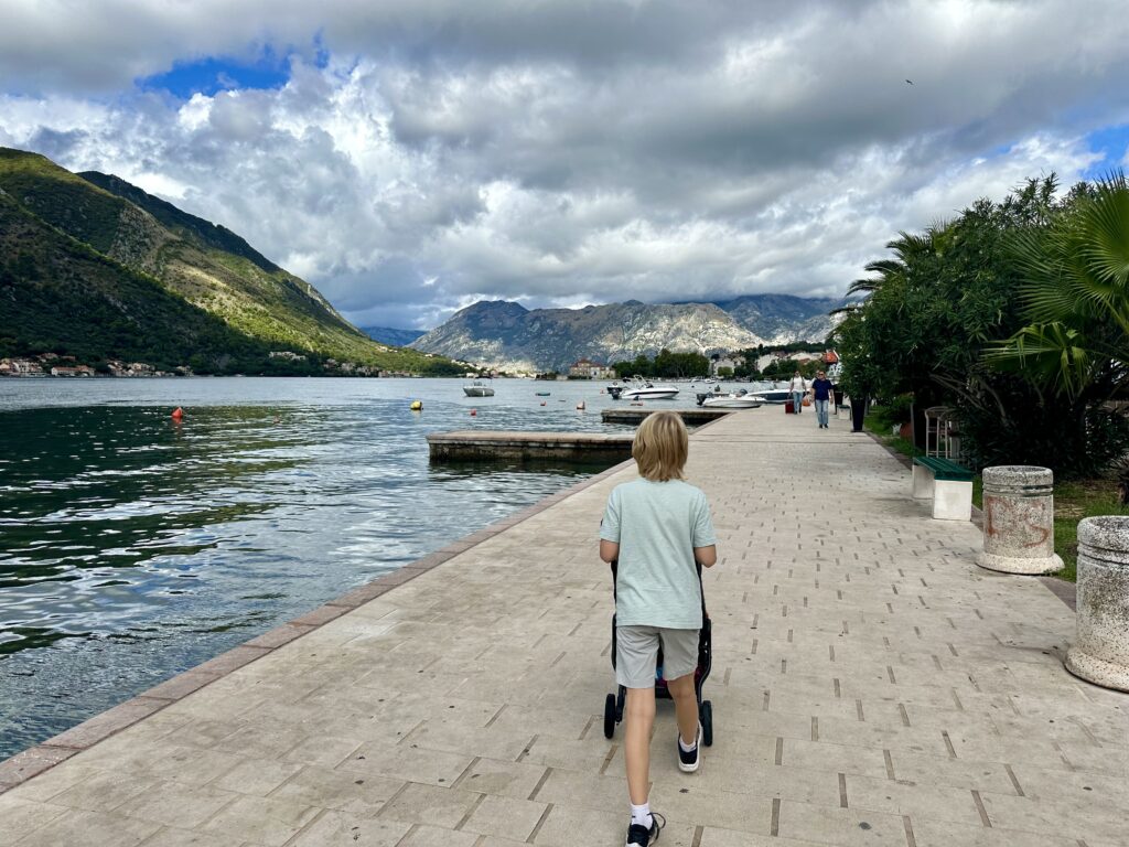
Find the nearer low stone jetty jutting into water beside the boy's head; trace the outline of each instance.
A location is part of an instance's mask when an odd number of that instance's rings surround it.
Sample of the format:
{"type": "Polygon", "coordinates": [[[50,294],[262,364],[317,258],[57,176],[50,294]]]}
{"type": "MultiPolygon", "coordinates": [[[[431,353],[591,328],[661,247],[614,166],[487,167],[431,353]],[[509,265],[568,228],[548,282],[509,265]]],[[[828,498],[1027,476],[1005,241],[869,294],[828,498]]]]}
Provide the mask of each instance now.
{"type": "Polygon", "coordinates": [[[601,433],[505,433],[462,429],[427,437],[432,462],[523,462],[614,464],[631,457],[632,435],[601,433]]]}

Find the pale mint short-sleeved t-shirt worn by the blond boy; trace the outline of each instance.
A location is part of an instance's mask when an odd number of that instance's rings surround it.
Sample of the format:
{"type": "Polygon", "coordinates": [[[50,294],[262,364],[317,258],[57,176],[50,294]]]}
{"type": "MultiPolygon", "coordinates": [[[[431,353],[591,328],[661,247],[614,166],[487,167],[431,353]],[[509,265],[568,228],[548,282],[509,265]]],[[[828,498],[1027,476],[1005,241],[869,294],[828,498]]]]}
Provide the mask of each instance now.
{"type": "Polygon", "coordinates": [[[717,543],[706,495],[682,480],[639,478],[607,498],[599,538],[620,545],[615,622],[701,629],[694,548],[717,543]]]}

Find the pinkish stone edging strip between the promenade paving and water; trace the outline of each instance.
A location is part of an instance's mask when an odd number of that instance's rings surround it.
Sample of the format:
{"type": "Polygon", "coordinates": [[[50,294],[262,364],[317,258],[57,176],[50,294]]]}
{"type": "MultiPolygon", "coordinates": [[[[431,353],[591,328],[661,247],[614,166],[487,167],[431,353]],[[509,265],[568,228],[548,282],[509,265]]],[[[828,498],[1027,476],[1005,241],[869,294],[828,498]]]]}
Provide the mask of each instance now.
{"type": "MultiPolygon", "coordinates": [[[[724,420],[724,418],[717,418],[703,424],[697,427],[694,433],[700,433],[719,420],[724,420]]],[[[609,477],[627,470],[632,464],[634,464],[634,460],[629,459],[594,477],[588,477],[580,482],[539,500],[522,512],[492,523],[458,541],[453,541],[441,550],[428,553],[423,558],[404,565],[384,576],[379,576],[366,585],[353,588],[348,594],[342,594],[340,597],[331,600],[299,618],[295,618],[280,627],[275,627],[263,632],[261,636],[252,638],[238,647],[233,647],[226,653],[219,654],[203,664],[165,680],[148,691],[142,691],[132,699],[125,700],[99,715],[95,715],[78,726],[72,726],[70,730],[52,739],[40,742],[20,753],[16,753],[10,759],[0,761],[0,794],[50,770],[59,762],[70,759],[72,756],[94,746],[98,742],[116,735],[122,730],[140,723],[166,706],[187,697],[193,691],[199,691],[233,671],[270,655],[279,647],[297,638],[301,638],[307,632],[313,632],[318,627],[340,618],[347,612],[351,612],[353,609],[364,605],[382,594],[386,594],[396,586],[411,582],[421,574],[426,574],[448,559],[453,559],[460,553],[481,544],[483,541],[501,534],[511,526],[516,526],[545,512],[561,500],[603,482],[609,477]]]]}

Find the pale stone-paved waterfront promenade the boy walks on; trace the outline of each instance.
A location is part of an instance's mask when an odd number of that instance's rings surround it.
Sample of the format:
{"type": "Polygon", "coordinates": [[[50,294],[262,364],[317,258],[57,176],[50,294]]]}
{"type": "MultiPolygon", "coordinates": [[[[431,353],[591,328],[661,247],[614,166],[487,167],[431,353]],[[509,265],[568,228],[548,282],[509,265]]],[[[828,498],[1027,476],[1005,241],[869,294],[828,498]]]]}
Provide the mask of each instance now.
{"type": "MultiPolygon", "coordinates": [[[[692,437],[719,533],[704,582],[715,744],[680,774],[659,702],[658,844],[1129,844],[1129,695],[1067,674],[1067,605],[978,569],[979,530],[930,519],[909,471],[848,430],[774,407],[692,437]]],[[[0,766],[0,787],[43,770],[0,795],[0,844],[622,845],[596,531],[632,475],[0,766]]]]}

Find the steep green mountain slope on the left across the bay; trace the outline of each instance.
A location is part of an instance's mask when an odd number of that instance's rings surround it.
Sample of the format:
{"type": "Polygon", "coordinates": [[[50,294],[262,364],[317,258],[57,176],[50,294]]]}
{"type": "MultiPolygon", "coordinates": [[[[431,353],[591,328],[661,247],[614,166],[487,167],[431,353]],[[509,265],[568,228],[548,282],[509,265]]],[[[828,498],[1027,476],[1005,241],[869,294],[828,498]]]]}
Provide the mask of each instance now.
{"type": "Polygon", "coordinates": [[[134,185],[0,148],[0,356],[54,351],[198,373],[460,370],[377,343],[235,233],[134,185]],[[287,350],[305,360],[272,359],[287,350]]]}

